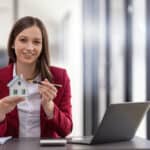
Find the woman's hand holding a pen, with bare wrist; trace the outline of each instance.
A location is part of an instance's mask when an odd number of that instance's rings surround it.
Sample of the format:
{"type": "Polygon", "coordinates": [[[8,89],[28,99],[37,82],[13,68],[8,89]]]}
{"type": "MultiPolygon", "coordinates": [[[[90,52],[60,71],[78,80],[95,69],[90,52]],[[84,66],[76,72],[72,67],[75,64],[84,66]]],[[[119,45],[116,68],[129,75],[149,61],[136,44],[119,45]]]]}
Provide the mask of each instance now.
{"type": "Polygon", "coordinates": [[[53,117],[54,111],[53,99],[57,95],[57,89],[53,84],[51,84],[47,79],[45,79],[39,85],[39,92],[42,97],[41,103],[44,108],[44,111],[48,118],[51,119],[53,117]]]}

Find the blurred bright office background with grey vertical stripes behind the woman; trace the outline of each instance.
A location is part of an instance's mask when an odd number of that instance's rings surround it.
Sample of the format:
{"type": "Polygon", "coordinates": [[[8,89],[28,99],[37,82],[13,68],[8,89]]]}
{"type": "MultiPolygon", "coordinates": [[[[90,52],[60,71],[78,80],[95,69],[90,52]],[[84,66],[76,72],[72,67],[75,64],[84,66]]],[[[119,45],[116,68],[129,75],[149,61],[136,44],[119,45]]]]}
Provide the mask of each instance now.
{"type": "MultiPolygon", "coordinates": [[[[95,132],[110,103],[150,100],[149,0],[0,0],[0,66],[20,17],[39,17],[49,34],[51,64],[71,78],[74,128],[95,132]]],[[[137,134],[150,139],[150,116],[137,134]]]]}

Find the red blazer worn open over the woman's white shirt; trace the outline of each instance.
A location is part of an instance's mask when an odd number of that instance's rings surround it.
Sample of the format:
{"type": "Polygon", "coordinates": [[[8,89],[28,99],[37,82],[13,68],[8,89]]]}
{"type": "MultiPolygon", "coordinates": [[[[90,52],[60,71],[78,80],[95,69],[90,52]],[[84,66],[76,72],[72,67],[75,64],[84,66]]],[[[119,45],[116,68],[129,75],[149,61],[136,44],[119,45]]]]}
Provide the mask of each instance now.
{"type": "MultiPolygon", "coordinates": [[[[47,116],[41,106],[41,137],[65,137],[72,130],[70,80],[65,69],[50,67],[50,71],[54,77],[54,83],[61,84],[63,87],[58,89],[57,96],[54,99],[53,119],[47,119],[47,116]]],[[[12,75],[12,64],[0,69],[0,99],[9,95],[7,83],[12,80],[12,75]]],[[[13,111],[8,113],[6,115],[6,119],[0,123],[0,136],[19,136],[19,118],[17,106],[13,111]]]]}

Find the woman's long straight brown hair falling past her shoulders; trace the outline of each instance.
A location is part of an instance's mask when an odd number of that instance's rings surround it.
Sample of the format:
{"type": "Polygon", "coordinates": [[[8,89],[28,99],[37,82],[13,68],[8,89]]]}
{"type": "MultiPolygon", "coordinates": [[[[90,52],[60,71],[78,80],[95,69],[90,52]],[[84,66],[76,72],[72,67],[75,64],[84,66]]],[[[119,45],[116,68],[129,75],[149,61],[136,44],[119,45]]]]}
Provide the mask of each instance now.
{"type": "Polygon", "coordinates": [[[8,39],[8,56],[9,56],[9,64],[16,62],[16,54],[15,50],[12,48],[12,45],[14,44],[14,41],[17,37],[17,35],[22,32],[24,29],[29,28],[31,26],[36,25],[41,33],[42,33],[42,51],[41,54],[37,60],[36,64],[36,72],[35,74],[40,73],[41,78],[47,78],[49,81],[52,80],[52,74],[49,70],[50,66],[50,60],[49,60],[49,46],[48,46],[48,35],[46,28],[42,21],[38,18],[26,16],[21,19],[19,19],[13,26],[9,39],[8,39]]]}

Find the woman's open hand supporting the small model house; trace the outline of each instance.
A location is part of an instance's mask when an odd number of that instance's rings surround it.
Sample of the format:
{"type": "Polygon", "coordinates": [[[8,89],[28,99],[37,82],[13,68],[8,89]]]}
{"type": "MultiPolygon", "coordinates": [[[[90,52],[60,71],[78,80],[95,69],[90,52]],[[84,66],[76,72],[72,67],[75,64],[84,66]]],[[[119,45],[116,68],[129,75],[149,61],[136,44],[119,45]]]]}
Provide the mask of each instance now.
{"type": "Polygon", "coordinates": [[[0,122],[5,119],[7,113],[11,112],[15,106],[24,100],[22,96],[7,96],[0,100],[0,122]]]}

